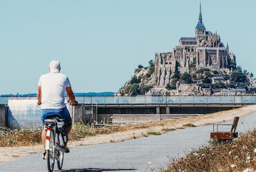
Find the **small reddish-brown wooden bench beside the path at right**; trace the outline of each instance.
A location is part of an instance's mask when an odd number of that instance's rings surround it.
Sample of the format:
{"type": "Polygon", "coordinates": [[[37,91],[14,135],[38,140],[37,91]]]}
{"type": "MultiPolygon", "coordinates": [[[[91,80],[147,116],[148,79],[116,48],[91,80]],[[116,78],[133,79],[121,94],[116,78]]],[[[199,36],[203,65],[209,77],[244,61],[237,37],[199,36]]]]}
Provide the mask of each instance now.
{"type": "Polygon", "coordinates": [[[234,118],[234,121],[233,121],[230,132],[218,131],[218,128],[219,128],[220,125],[216,125],[217,126],[217,131],[214,132],[214,126],[215,125],[213,125],[213,132],[210,133],[210,138],[217,138],[220,141],[232,140],[233,138],[237,138],[238,133],[235,130],[237,129],[238,120],[239,120],[239,116],[236,116],[234,118]]]}

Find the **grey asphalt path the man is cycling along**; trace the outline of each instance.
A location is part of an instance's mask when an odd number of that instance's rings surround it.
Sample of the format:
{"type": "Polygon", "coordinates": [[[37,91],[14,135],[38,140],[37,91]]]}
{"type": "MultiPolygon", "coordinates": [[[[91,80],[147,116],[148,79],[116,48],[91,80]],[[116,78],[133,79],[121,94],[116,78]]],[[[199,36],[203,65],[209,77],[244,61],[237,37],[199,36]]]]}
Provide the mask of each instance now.
{"type": "MultiPolygon", "coordinates": [[[[225,122],[232,124],[232,121],[225,122]]],[[[256,113],[239,119],[238,132],[256,126],[256,113]]],[[[230,130],[230,127],[224,129],[230,130]]],[[[170,131],[123,142],[74,147],[64,154],[62,171],[158,171],[170,163],[170,157],[183,156],[208,144],[212,125],[170,131]]],[[[55,164],[57,171],[57,164],[55,164]]],[[[47,171],[41,154],[31,154],[10,162],[0,163],[0,171],[47,171]]]]}

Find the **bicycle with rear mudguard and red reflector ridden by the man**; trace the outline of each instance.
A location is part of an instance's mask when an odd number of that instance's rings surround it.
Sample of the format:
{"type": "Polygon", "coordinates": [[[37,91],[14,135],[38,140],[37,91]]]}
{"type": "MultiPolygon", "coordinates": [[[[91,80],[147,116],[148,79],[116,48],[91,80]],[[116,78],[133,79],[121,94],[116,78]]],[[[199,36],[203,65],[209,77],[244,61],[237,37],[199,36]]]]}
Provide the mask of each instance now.
{"type": "Polygon", "coordinates": [[[48,171],[53,171],[55,160],[57,160],[57,168],[62,169],[64,161],[64,150],[57,147],[55,142],[56,131],[57,131],[57,120],[60,116],[52,115],[48,116],[44,120],[44,131],[46,140],[46,157],[47,157],[47,167],[48,171]]]}

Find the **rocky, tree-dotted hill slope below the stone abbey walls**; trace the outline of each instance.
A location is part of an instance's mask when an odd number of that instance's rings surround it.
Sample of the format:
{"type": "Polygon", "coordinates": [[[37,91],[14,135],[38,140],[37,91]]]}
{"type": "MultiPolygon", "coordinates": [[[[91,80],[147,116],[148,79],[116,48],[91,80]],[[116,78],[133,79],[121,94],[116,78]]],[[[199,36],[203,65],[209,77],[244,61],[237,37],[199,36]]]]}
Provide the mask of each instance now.
{"type": "Polygon", "coordinates": [[[138,65],[134,76],[125,83],[119,93],[129,96],[170,96],[170,95],[243,95],[255,92],[253,74],[242,70],[235,61],[230,61],[226,70],[197,68],[190,64],[190,72],[179,72],[179,67],[165,87],[157,85],[154,61],[148,67],[138,65]]]}

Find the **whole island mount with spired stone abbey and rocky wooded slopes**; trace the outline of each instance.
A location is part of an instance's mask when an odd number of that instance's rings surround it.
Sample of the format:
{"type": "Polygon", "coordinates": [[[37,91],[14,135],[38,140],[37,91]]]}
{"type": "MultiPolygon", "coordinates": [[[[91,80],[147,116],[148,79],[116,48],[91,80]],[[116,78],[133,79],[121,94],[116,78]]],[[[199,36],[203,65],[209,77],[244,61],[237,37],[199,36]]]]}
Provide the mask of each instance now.
{"type": "Polygon", "coordinates": [[[138,65],[117,95],[244,95],[255,92],[253,74],[237,66],[236,56],[217,32],[206,30],[201,4],[194,36],[181,37],[172,52],[155,54],[149,67],[138,65]]]}

